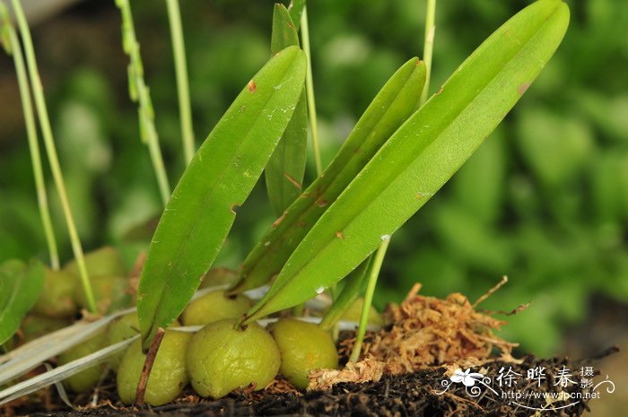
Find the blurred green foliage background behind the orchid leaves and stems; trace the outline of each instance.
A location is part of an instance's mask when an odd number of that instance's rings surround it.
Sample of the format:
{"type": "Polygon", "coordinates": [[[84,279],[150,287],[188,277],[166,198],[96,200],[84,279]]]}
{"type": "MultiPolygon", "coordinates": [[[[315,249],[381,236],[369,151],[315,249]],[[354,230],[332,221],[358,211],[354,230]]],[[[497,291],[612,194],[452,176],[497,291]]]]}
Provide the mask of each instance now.
{"type": "MultiPolygon", "coordinates": [[[[410,56],[421,56],[424,2],[310,3],[328,162],[388,77],[410,56]]],[[[440,2],[432,92],[528,3],[440,2]]],[[[508,275],[510,283],[484,308],[533,301],[508,317],[504,336],[551,355],[563,349],[564,334],[591,320],[592,305],[628,301],[628,6],[624,0],[568,3],[570,30],[545,71],[463,169],[395,234],[379,306],[402,300],[414,282],[423,282],[424,294],[459,291],[475,300],[508,275]]],[[[269,57],[272,4],[181,2],[197,143],[269,57]]],[[[183,157],[166,8],[154,0],[132,6],[174,185],[183,157]]],[[[33,36],[84,247],[114,244],[132,258],[145,242],[129,244],[126,232],[159,213],[160,198],[127,96],[119,25],[113,1],[84,0],[39,22],[33,36]]],[[[0,261],[47,259],[13,62],[6,56],[0,102],[0,261]]],[[[310,163],[307,178],[313,175],[310,163]]],[[[71,250],[52,187],[49,195],[67,260],[71,250]]],[[[260,181],[215,265],[239,265],[274,220],[260,181]]]]}

